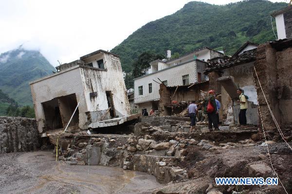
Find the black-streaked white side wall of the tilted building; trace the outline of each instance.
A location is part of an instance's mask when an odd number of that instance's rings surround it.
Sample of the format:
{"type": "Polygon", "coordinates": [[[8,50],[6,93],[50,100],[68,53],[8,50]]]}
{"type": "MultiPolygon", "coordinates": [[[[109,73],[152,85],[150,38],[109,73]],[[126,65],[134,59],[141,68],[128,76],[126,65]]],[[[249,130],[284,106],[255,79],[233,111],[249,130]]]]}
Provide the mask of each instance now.
{"type": "MultiPolygon", "coordinates": [[[[88,109],[89,111],[107,110],[109,106],[106,91],[111,91],[116,114],[120,117],[127,116],[130,114],[130,107],[120,60],[118,57],[106,53],[104,53],[103,59],[107,71],[90,68],[81,69],[84,95],[88,109]],[[91,92],[97,92],[97,97],[91,99],[91,92]]],[[[88,63],[92,62],[88,61],[88,63]]]]}

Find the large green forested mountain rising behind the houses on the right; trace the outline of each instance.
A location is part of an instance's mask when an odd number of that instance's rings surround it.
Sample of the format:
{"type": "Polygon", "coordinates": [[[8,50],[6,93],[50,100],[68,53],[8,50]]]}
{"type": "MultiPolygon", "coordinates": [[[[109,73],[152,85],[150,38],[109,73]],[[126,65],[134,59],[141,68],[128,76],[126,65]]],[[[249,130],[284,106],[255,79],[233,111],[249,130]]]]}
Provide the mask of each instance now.
{"type": "Polygon", "coordinates": [[[121,57],[126,72],[131,71],[133,61],[144,51],[164,54],[170,49],[172,53],[185,54],[210,47],[232,54],[248,40],[256,43],[274,40],[270,14],[287,5],[268,0],[226,5],[192,1],[172,15],[147,23],[111,52],[121,57]]]}

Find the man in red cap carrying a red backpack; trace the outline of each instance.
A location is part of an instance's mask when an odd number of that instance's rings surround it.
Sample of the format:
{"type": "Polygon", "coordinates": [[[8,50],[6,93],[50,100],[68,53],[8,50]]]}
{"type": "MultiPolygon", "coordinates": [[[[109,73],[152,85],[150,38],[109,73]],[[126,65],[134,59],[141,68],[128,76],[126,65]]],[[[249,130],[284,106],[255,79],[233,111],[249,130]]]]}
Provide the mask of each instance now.
{"type": "Polygon", "coordinates": [[[215,101],[215,92],[214,90],[210,90],[209,96],[204,98],[203,101],[203,107],[204,107],[204,113],[208,115],[208,124],[209,129],[212,130],[212,124],[215,128],[215,130],[219,130],[218,128],[218,120],[217,120],[217,105],[215,101]]]}

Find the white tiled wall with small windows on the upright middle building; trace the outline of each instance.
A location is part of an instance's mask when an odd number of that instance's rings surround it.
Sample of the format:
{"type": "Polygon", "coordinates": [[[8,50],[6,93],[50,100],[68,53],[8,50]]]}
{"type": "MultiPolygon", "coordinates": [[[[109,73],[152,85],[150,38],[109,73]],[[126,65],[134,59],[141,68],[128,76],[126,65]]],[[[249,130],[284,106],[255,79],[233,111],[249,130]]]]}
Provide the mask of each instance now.
{"type": "Polygon", "coordinates": [[[174,66],[172,68],[158,71],[154,74],[149,74],[145,77],[134,80],[134,103],[141,103],[145,101],[157,100],[159,95],[159,83],[158,78],[161,81],[167,80],[168,86],[183,85],[183,75],[189,75],[189,83],[197,82],[197,67],[196,61],[174,66]],[[153,81],[155,80],[155,81],[153,81]],[[152,83],[152,93],[149,94],[148,83],[152,83]],[[139,95],[138,87],[143,86],[143,95],[139,95]]]}

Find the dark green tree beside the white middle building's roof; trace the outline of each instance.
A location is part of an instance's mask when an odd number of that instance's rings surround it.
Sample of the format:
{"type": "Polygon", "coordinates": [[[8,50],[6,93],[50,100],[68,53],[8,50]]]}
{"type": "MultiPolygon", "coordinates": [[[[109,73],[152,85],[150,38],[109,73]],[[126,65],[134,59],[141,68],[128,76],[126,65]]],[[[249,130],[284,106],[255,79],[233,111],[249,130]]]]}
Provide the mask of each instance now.
{"type": "Polygon", "coordinates": [[[146,74],[146,70],[150,67],[150,62],[163,59],[164,55],[155,54],[150,51],[141,53],[137,60],[133,63],[132,77],[138,78],[146,74]]]}

